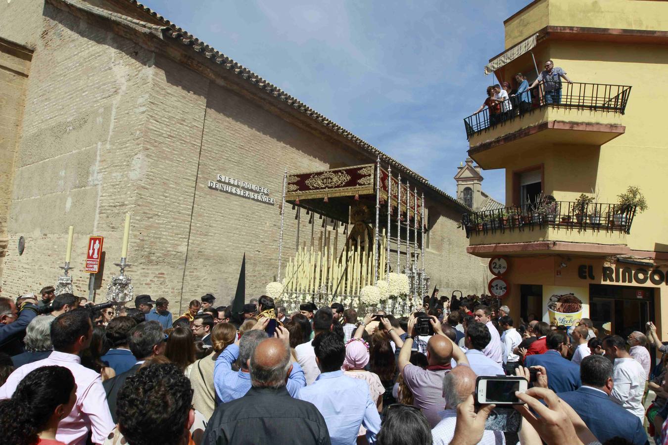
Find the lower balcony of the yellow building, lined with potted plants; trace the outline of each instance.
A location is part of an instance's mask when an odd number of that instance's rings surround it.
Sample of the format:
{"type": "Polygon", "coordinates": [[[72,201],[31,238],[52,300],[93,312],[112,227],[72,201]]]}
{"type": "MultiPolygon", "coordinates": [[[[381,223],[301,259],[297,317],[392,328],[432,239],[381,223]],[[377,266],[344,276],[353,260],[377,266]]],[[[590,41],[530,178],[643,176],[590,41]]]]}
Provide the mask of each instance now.
{"type": "Polygon", "coordinates": [[[478,256],[550,252],[605,256],[626,253],[635,211],[618,204],[544,201],[465,213],[462,228],[470,239],[468,252],[478,256]]]}

